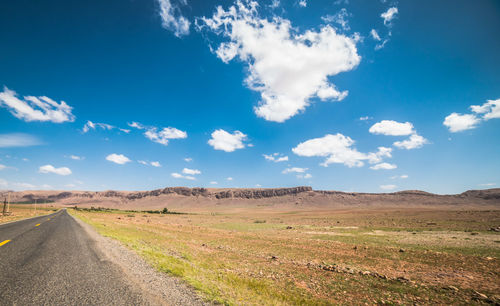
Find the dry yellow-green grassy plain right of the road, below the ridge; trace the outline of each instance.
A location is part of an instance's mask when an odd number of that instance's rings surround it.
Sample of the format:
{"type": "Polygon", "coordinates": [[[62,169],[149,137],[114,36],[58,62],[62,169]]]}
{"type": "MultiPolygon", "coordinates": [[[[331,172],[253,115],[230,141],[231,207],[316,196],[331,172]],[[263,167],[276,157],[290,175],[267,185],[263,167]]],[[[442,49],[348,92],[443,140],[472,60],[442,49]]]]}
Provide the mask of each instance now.
{"type": "Polygon", "coordinates": [[[500,210],[72,213],[224,304],[500,302],[500,210]]]}

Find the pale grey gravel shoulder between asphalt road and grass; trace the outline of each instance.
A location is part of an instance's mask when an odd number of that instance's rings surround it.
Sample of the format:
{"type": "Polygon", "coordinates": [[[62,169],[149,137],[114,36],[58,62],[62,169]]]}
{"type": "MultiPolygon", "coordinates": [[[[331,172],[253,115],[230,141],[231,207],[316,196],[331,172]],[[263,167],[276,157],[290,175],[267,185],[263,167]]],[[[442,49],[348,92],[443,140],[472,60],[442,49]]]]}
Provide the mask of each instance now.
{"type": "Polygon", "coordinates": [[[151,305],[211,305],[179,278],[156,271],[144,259],[127,249],[119,241],[99,235],[87,223],[74,218],[96,246],[114,264],[123,270],[125,278],[149,297],[151,305]]]}

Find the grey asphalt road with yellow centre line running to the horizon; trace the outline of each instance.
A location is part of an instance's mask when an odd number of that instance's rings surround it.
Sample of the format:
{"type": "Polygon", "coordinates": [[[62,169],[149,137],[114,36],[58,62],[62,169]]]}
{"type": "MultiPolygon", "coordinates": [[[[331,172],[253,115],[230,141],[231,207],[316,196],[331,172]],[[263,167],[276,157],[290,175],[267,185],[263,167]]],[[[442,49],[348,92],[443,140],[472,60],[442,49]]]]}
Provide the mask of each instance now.
{"type": "Polygon", "coordinates": [[[146,300],[66,210],[0,225],[0,305],[138,305],[146,300]]]}

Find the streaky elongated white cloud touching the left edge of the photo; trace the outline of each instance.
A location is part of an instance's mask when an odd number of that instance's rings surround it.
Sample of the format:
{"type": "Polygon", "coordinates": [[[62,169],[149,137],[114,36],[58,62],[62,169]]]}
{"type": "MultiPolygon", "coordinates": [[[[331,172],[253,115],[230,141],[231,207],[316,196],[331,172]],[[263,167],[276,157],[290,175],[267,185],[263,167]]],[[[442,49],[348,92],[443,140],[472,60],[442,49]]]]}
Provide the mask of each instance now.
{"type": "Polygon", "coordinates": [[[4,87],[0,92],[0,106],[24,121],[50,121],[54,123],[73,122],[72,107],[61,101],[57,103],[49,97],[25,96],[19,99],[15,91],[4,87]]]}

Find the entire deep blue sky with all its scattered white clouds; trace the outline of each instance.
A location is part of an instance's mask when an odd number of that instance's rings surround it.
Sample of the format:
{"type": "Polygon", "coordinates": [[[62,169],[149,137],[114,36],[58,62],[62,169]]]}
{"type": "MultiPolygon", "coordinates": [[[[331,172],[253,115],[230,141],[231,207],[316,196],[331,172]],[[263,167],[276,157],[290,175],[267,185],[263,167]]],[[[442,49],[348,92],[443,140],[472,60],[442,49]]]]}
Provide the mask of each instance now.
{"type": "Polygon", "coordinates": [[[500,184],[498,1],[3,1],[0,37],[0,189],[500,184]]]}

